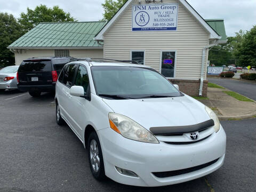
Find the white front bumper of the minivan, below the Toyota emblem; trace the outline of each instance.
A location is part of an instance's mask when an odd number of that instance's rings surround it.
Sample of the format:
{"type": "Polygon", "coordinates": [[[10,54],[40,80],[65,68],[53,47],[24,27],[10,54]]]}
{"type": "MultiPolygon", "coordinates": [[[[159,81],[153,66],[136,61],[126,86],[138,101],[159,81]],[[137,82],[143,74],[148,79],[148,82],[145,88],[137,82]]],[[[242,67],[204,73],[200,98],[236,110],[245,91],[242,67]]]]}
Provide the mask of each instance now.
{"type": "Polygon", "coordinates": [[[165,186],[203,177],[221,167],[226,152],[226,133],[222,127],[209,138],[188,145],[133,141],[111,128],[99,130],[98,135],[107,177],[133,186],[165,186]],[[209,162],[213,163],[206,164],[209,162]],[[207,166],[201,166],[202,169],[189,169],[205,164],[207,166]],[[116,167],[132,171],[138,177],[121,174],[116,167]],[[192,171],[183,173],[186,169],[192,171]],[[171,177],[155,174],[175,170],[180,170],[181,174],[171,177]]]}

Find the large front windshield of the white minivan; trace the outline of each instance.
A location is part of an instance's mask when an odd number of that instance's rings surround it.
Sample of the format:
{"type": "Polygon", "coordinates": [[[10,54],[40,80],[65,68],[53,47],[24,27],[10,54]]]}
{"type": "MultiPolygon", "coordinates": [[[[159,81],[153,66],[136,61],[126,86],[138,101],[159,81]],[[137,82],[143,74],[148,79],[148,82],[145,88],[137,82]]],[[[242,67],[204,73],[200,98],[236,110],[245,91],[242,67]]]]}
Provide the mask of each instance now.
{"type": "Polygon", "coordinates": [[[95,90],[112,99],[179,97],[180,93],[154,69],[126,66],[91,67],[95,90]]]}

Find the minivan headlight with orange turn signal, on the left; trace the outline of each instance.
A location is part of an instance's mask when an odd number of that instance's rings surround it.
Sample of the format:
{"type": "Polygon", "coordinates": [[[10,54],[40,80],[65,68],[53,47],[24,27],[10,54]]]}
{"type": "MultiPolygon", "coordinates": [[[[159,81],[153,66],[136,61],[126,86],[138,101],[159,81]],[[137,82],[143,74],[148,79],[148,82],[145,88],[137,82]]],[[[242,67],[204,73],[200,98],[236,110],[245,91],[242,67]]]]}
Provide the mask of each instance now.
{"type": "Polygon", "coordinates": [[[108,116],[111,129],[123,137],[135,141],[159,143],[153,134],[129,117],[116,113],[109,113],[108,116]]]}

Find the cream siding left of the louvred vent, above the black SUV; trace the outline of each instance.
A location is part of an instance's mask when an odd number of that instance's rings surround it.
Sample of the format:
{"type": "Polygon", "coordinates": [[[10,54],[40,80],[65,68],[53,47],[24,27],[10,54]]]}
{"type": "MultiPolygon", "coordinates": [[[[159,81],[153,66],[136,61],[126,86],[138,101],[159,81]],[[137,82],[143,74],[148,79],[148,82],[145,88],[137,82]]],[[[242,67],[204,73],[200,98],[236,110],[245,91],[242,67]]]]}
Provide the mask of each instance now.
{"type": "Polygon", "coordinates": [[[31,50],[19,50],[14,52],[15,55],[15,65],[20,65],[20,63],[28,58],[32,57],[53,57],[54,50],[48,49],[31,49],[31,50]]]}

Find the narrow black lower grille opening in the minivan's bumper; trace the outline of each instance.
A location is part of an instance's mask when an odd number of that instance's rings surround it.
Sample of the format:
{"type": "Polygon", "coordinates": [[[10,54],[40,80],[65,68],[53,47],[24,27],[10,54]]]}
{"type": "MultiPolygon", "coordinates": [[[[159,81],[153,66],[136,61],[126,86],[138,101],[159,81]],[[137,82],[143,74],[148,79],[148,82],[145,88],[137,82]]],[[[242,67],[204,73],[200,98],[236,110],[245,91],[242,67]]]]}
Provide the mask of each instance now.
{"type": "Polygon", "coordinates": [[[177,175],[181,175],[181,174],[186,174],[186,173],[190,173],[193,171],[197,171],[197,170],[201,170],[207,166],[210,166],[214,163],[216,163],[219,160],[219,158],[209,162],[209,163],[205,163],[202,165],[198,165],[198,166],[194,166],[194,167],[190,167],[187,169],[182,169],[182,170],[175,170],[175,171],[165,171],[165,172],[153,172],[153,174],[158,177],[158,178],[166,178],[166,177],[173,177],[173,176],[177,176],[177,175]]]}

